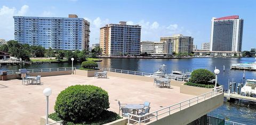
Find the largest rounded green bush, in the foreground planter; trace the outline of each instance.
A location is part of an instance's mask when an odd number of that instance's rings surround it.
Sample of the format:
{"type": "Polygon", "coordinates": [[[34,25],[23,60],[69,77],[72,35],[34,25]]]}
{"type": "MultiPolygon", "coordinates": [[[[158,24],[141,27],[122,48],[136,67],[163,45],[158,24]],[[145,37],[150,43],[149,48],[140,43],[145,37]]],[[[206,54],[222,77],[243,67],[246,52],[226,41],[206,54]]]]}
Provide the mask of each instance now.
{"type": "Polygon", "coordinates": [[[93,120],[109,108],[108,93],[93,85],[69,86],[61,91],[54,110],[62,120],[74,123],[93,120]]]}

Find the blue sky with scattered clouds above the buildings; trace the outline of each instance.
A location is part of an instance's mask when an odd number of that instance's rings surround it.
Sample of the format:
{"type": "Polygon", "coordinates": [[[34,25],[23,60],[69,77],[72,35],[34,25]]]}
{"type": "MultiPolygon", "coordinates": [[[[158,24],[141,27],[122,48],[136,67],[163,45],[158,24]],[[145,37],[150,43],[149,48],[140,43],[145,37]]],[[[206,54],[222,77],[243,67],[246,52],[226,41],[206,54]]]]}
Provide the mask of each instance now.
{"type": "Polygon", "coordinates": [[[256,47],[256,1],[245,0],[0,0],[0,39],[14,39],[13,15],[67,17],[77,14],[91,23],[90,44],[99,42],[99,28],[127,21],[142,26],[141,40],[184,34],[201,48],[210,41],[212,17],[239,15],[244,19],[243,50],[256,47]]]}

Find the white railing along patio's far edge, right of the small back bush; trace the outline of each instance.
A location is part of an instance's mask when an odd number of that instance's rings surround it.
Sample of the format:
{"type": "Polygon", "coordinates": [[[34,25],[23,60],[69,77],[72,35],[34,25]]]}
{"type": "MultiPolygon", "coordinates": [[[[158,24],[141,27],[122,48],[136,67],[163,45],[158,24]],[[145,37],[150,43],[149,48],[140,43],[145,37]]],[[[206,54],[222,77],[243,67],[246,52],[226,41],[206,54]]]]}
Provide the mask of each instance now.
{"type": "Polygon", "coordinates": [[[130,75],[138,75],[138,76],[150,76],[154,75],[153,73],[145,73],[145,72],[137,72],[132,70],[123,70],[123,69],[115,69],[115,68],[102,68],[104,71],[122,73],[122,74],[130,74],[130,75]]]}

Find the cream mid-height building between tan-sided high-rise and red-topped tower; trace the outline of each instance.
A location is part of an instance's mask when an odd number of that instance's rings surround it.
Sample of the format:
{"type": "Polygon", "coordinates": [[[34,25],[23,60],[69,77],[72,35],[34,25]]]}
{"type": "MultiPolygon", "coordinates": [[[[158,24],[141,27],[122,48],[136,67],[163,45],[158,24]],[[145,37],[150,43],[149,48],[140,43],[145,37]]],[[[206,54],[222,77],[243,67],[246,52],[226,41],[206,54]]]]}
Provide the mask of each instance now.
{"type": "Polygon", "coordinates": [[[160,42],[165,42],[166,53],[175,52],[192,52],[193,51],[192,37],[185,37],[182,34],[175,34],[172,37],[160,37],[160,42]]]}

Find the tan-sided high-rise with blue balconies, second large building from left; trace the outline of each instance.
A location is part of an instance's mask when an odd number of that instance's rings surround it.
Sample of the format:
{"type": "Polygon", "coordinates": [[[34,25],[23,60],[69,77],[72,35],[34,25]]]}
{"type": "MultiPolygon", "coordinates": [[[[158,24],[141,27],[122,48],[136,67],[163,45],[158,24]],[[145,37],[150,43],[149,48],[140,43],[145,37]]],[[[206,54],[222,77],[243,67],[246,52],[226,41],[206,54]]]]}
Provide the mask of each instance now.
{"type": "Polygon", "coordinates": [[[140,25],[107,24],[100,28],[102,55],[140,55],[140,25]]]}

